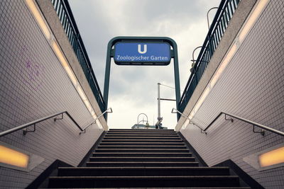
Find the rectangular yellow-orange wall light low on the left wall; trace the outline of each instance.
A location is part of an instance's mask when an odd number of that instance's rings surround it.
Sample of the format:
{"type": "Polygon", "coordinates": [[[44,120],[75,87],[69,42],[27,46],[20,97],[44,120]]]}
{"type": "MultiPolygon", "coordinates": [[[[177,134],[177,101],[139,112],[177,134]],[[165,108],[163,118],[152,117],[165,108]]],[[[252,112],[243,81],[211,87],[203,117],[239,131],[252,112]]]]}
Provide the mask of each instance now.
{"type": "Polygon", "coordinates": [[[29,156],[20,151],[0,145],[0,163],[21,168],[28,168],[29,156]]]}

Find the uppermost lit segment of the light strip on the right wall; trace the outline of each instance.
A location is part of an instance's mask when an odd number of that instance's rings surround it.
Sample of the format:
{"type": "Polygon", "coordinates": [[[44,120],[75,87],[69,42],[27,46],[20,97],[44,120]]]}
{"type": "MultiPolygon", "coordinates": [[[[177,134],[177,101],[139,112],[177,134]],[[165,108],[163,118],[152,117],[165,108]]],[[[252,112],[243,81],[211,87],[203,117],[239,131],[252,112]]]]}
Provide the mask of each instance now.
{"type": "Polygon", "coordinates": [[[255,6],[249,19],[246,20],[246,23],[243,28],[241,28],[241,32],[239,33],[239,41],[243,42],[246,38],[246,35],[249,33],[251,28],[253,27],[254,23],[256,23],[257,18],[261,15],[264,8],[268,4],[270,0],[261,0],[258,1],[258,4],[255,6]]]}

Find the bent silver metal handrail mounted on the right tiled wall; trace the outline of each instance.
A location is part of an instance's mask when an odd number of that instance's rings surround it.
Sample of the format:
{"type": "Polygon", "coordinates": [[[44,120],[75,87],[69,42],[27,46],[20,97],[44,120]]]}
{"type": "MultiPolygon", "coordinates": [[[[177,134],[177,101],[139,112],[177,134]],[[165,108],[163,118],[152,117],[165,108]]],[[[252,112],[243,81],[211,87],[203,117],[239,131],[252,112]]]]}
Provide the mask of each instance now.
{"type": "MultiPolygon", "coordinates": [[[[177,109],[175,109],[175,108],[172,109],[172,113],[179,113],[182,117],[186,118],[187,120],[190,120],[190,118],[187,118],[187,116],[185,116],[184,114],[182,114],[179,110],[177,110],[177,109]],[[175,110],[175,112],[174,112],[174,110],[175,110]]],[[[251,120],[247,120],[247,119],[245,119],[245,118],[241,118],[241,117],[239,117],[239,116],[237,116],[237,115],[233,115],[233,114],[231,114],[231,113],[226,113],[226,112],[221,112],[221,113],[219,113],[219,115],[217,115],[217,117],[214,118],[214,120],[212,120],[212,122],[210,122],[209,125],[208,125],[207,127],[205,127],[204,130],[202,129],[202,127],[198,126],[195,122],[192,122],[192,120],[190,120],[190,124],[193,124],[193,125],[197,126],[198,128],[200,128],[200,132],[202,132],[202,133],[204,133],[204,134],[207,134],[206,131],[209,129],[209,127],[211,127],[211,126],[213,125],[213,123],[214,123],[216,120],[218,120],[218,118],[219,118],[221,115],[223,115],[223,114],[225,115],[225,120],[229,120],[229,121],[231,121],[231,122],[234,122],[234,119],[232,119],[232,118],[235,118],[235,119],[237,119],[237,120],[241,120],[241,121],[243,121],[243,122],[247,122],[247,123],[253,125],[253,132],[255,132],[255,133],[260,133],[261,135],[264,136],[264,130],[268,130],[268,131],[270,131],[270,132],[273,132],[273,133],[275,133],[275,134],[279,134],[279,135],[281,135],[281,136],[284,137],[284,132],[282,132],[282,131],[280,131],[280,130],[275,130],[275,129],[273,129],[273,128],[271,128],[271,127],[268,127],[268,126],[266,126],[266,125],[261,125],[261,124],[259,124],[259,123],[257,123],[257,122],[253,122],[253,121],[251,121],[251,120]],[[229,117],[231,117],[231,118],[227,119],[226,116],[229,116],[229,117]],[[255,127],[260,127],[260,128],[261,128],[261,131],[260,131],[260,132],[257,132],[257,131],[255,130],[255,127]]]]}

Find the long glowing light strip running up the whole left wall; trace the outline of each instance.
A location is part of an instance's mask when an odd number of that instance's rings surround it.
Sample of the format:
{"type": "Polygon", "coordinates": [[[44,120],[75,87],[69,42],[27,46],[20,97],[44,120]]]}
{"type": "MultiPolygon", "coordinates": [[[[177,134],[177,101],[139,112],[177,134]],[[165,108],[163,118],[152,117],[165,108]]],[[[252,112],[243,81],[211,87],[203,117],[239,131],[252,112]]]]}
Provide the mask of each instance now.
{"type": "MultiPolygon", "coordinates": [[[[45,22],[42,13],[40,13],[38,6],[35,4],[35,1],[26,0],[26,4],[28,8],[31,10],[31,13],[33,13],[35,20],[40,26],[40,29],[43,31],[43,34],[45,35],[45,38],[48,40],[48,43],[52,47],[53,52],[55,52],[55,55],[58,57],[60,63],[62,64],[62,67],[65,69],[67,76],[72,81],[73,86],[75,86],[77,93],[79,93],[80,98],[82,98],[84,105],[89,110],[89,113],[92,115],[92,118],[96,119],[97,114],[94,112],[94,108],[92,108],[91,103],[89,103],[89,99],[85,95],[84,90],[80,85],[80,82],[77,80],[77,77],[72,71],[70,64],[67,62],[67,59],[62,53],[62,50],[60,49],[58,42],[55,40],[53,33],[51,33],[51,30],[49,29],[48,24],[45,22]]],[[[102,123],[99,120],[96,121],[96,124],[98,125],[99,129],[102,129],[102,123]]]]}

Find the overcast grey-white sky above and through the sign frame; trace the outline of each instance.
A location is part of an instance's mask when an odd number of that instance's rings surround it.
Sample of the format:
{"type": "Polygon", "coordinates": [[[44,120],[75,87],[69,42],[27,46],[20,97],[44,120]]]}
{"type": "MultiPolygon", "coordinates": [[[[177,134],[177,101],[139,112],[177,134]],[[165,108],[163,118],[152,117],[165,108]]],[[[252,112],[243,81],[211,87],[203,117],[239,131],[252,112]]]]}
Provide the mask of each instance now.
{"type": "MultiPolygon", "coordinates": [[[[180,88],[190,76],[192,51],[207,35],[207,11],[220,0],[70,0],[99,86],[104,91],[107,43],[116,36],[170,37],[178,44],[180,88]]],[[[212,21],[216,10],[209,13],[212,21]]],[[[199,51],[195,52],[195,58],[199,51]]],[[[110,128],[131,128],[139,113],[157,121],[157,83],[175,87],[173,61],[166,67],[117,66],[111,62],[109,85],[110,128]]],[[[161,86],[161,98],[175,99],[175,90],[161,86]]],[[[182,93],[182,92],[181,92],[182,93]]],[[[163,126],[177,123],[173,101],[161,101],[163,126]]],[[[146,120],[140,116],[139,120],[146,120]]]]}

